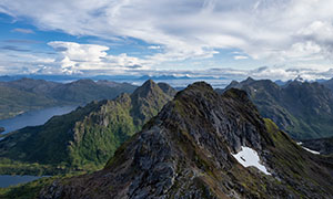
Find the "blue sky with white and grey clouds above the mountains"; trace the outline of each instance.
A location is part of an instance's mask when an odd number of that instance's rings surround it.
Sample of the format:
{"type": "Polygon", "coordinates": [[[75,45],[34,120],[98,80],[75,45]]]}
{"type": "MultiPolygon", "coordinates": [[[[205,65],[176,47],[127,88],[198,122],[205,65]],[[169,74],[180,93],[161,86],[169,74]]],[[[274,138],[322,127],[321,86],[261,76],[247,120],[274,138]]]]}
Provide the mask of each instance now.
{"type": "Polygon", "coordinates": [[[333,77],[333,0],[0,0],[0,75],[333,77]]]}

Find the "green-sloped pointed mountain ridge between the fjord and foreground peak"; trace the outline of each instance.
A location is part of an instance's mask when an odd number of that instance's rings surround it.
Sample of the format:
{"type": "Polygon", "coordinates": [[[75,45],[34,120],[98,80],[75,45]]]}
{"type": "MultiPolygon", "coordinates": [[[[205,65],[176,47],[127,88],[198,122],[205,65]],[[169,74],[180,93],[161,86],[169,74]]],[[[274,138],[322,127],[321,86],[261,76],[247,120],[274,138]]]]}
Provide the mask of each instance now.
{"type": "MultiPolygon", "coordinates": [[[[171,90],[169,86],[168,91],[171,90]]],[[[11,133],[0,140],[0,157],[69,169],[100,168],[124,140],[172,100],[169,94],[148,81],[131,95],[92,102],[54,116],[42,126],[11,133]]]]}

